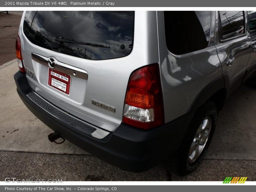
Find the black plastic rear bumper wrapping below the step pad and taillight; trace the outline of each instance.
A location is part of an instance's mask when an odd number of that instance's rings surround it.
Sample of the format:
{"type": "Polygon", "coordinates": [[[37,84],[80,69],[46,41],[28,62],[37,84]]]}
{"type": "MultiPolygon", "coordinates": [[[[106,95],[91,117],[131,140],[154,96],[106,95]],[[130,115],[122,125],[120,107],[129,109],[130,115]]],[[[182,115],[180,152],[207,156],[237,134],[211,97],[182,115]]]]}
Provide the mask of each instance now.
{"type": "Polygon", "coordinates": [[[126,171],[141,172],[161,163],[180,146],[193,114],[180,118],[150,131],[120,126],[103,139],[95,139],[61,122],[28,98],[33,92],[26,75],[14,75],[17,92],[27,108],[44,124],[63,138],[100,159],[126,171]]]}

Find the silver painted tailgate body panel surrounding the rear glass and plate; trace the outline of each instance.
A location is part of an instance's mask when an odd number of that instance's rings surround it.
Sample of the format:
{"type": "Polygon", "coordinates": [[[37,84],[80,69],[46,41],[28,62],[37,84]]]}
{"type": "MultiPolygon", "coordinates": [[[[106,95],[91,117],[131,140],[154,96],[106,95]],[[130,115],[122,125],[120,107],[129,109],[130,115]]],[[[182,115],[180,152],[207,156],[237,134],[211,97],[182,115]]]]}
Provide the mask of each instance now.
{"type": "MultiPolygon", "coordinates": [[[[25,13],[22,20],[24,20],[25,13]]],[[[19,36],[23,64],[35,73],[35,79],[27,74],[28,83],[45,100],[64,111],[100,128],[114,131],[122,122],[124,99],[130,74],[137,68],[158,62],[156,12],[135,12],[134,43],[126,56],[108,60],[89,60],[45,49],[31,43],[20,25],[19,36]],[[154,38],[152,38],[154,37],[154,38]],[[69,67],[82,69],[88,79],[71,77],[70,94],[48,86],[49,66],[33,59],[31,53],[54,57],[69,67]],[[92,100],[115,108],[106,110],[92,100]]]]}

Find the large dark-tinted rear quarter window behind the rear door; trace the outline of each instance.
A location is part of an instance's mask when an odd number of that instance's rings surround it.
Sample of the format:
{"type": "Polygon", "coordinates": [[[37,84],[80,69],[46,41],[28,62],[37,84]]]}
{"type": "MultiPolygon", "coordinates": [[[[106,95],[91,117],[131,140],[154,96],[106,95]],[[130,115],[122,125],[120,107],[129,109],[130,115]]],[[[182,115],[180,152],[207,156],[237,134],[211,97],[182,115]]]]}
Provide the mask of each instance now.
{"type": "Polygon", "coordinates": [[[211,11],[165,11],[167,48],[181,55],[204,49],[209,44],[211,11]]]}

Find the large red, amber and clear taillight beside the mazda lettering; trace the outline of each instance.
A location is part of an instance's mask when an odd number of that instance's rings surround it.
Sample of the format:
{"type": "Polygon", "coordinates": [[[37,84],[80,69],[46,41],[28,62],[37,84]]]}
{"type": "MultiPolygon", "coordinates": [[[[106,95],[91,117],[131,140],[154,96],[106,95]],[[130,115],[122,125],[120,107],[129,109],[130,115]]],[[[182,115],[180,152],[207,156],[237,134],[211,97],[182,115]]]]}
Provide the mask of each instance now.
{"type": "Polygon", "coordinates": [[[163,95],[158,64],[135,70],[125,96],[123,122],[141,129],[164,124],[163,95]]]}

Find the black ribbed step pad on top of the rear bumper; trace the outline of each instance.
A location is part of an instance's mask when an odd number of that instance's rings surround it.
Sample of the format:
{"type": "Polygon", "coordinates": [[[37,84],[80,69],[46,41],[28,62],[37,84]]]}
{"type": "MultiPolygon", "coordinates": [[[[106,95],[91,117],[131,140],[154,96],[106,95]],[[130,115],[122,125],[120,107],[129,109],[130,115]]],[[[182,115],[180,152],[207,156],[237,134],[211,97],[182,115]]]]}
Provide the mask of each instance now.
{"type": "Polygon", "coordinates": [[[56,118],[58,118],[60,121],[64,122],[65,124],[75,128],[76,130],[83,132],[85,134],[90,134],[96,130],[96,128],[91,127],[88,124],[85,124],[83,121],[80,121],[71,115],[68,115],[65,111],[62,111],[50,103],[46,102],[44,99],[42,99],[40,96],[37,95],[35,92],[28,93],[28,98],[30,98],[32,101],[34,101],[38,106],[43,108],[48,113],[52,114],[56,118]]]}

